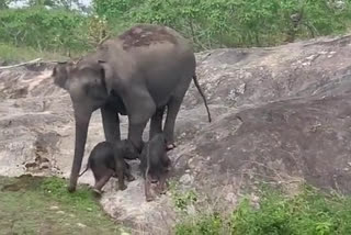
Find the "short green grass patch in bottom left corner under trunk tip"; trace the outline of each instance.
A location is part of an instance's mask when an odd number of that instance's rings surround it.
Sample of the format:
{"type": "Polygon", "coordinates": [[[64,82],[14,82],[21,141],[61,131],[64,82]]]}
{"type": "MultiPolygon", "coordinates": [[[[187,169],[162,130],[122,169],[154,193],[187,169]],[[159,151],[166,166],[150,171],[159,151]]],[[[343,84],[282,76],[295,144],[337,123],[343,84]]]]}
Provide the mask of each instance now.
{"type": "Polygon", "coordinates": [[[0,177],[0,234],[121,234],[87,187],[59,178],[0,177]]]}

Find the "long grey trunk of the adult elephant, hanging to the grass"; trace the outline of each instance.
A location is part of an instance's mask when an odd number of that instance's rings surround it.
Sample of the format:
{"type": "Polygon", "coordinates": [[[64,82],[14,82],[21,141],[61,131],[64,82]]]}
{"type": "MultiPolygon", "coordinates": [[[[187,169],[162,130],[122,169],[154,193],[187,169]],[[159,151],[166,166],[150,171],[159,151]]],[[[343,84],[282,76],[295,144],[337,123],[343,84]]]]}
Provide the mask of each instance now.
{"type": "Polygon", "coordinates": [[[69,187],[68,191],[76,191],[77,180],[79,176],[79,171],[81,168],[81,163],[84,155],[84,148],[87,143],[87,134],[89,122],[91,118],[92,111],[89,109],[81,109],[77,105],[75,109],[75,120],[76,120],[76,139],[75,139],[75,157],[72,163],[72,168],[70,172],[69,187]]]}

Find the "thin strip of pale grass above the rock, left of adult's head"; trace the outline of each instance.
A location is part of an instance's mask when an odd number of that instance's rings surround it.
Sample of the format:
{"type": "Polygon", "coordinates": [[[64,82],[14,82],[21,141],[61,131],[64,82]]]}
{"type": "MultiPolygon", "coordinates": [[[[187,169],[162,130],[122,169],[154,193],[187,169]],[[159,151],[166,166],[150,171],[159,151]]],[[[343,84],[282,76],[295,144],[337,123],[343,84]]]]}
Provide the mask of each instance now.
{"type": "Polygon", "coordinates": [[[44,60],[67,59],[66,56],[58,53],[38,52],[31,47],[15,47],[0,42],[0,61],[20,63],[35,58],[43,58],[44,60]]]}

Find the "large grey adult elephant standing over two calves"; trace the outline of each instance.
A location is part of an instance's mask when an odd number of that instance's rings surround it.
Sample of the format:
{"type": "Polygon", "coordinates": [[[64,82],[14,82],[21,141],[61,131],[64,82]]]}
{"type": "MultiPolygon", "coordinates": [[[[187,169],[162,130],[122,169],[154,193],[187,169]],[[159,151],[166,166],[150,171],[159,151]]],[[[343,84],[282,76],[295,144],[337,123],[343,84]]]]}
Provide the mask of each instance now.
{"type": "Polygon", "coordinates": [[[78,61],[59,63],[54,82],[70,94],[76,119],[75,158],[68,191],[76,190],[93,111],[101,109],[106,141],[121,139],[118,114],[128,115],[128,141],[139,154],[143,131],[151,119],[150,136],[162,131],[168,149],[174,145],[174,123],[192,78],[204,99],[195,76],[191,44],[167,26],[138,24],[78,61]]]}

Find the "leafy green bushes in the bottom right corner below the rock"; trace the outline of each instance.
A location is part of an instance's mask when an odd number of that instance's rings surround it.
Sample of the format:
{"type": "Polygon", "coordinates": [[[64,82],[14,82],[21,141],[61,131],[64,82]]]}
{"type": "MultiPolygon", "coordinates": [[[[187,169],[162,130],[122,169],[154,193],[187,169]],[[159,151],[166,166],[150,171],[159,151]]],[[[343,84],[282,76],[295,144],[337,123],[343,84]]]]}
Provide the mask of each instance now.
{"type": "Polygon", "coordinates": [[[294,197],[276,190],[260,195],[259,205],[242,199],[228,217],[218,213],[186,217],[176,226],[182,235],[347,235],[351,232],[351,198],[304,186],[294,197]]]}

